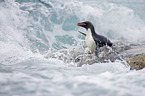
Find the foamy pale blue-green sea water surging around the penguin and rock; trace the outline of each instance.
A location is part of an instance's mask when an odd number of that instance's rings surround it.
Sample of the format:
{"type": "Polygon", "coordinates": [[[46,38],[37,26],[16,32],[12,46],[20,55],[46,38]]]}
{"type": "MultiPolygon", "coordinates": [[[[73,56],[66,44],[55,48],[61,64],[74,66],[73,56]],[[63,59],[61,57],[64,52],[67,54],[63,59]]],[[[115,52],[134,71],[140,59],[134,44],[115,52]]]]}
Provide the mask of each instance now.
{"type": "Polygon", "coordinates": [[[0,96],[144,96],[145,69],[45,58],[84,45],[76,24],[87,20],[111,41],[144,44],[144,9],[145,0],[0,0],[0,96]]]}

